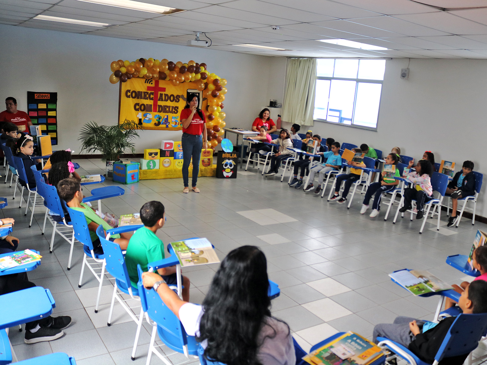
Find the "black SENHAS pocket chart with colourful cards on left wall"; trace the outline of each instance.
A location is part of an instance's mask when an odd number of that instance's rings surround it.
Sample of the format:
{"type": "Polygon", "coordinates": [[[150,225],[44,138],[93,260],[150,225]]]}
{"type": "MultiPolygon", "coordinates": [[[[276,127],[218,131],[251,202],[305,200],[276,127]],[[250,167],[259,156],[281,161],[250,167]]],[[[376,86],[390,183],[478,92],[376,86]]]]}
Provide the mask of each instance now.
{"type": "Polygon", "coordinates": [[[43,135],[51,136],[57,145],[57,92],[27,91],[27,113],[32,124],[39,126],[43,135]]]}

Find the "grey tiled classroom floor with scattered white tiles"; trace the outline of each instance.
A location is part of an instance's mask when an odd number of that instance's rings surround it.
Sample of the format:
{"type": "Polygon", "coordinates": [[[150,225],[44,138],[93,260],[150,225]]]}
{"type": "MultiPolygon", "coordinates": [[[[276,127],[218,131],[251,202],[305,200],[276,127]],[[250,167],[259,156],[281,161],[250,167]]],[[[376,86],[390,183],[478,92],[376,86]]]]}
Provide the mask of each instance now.
{"type": "MultiPolygon", "coordinates": [[[[100,161],[77,162],[82,166],[80,174],[102,172],[100,161]]],[[[443,218],[439,232],[429,220],[419,235],[420,222],[398,218],[392,224],[395,208],[388,221],[383,214],[371,219],[359,214],[359,195],[347,210],[345,205],[327,203],[312,192],[303,193],[280,183],[279,178],[264,178],[255,171],[249,169],[236,180],[200,178],[200,194],[183,194],[181,179],[117,184],[125,195],[103,204],[105,210],[120,215],[138,211],[146,201],[162,201],[168,221],[157,235],[164,242],[207,237],[221,258],[241,245],[261,247],[269,277],[281,288],[281,295],[272,302],[272,313],[289,324],[306,350],[336,331],[353,330],[371,337],[375,324],[392,322],[396,315],[431,319],[436,299],[409,295],[391,282],[388,273],[415,268],[459,283],[464,274],[448,266],[446,257],[468,253],[476,230],[487,229],[482,223],[472,226],[467,219],[459,228],[448,228],[443,218]]],[[[89,187],[99,185],[86,186],[84,192],[89,187]]],[[[27,228],[30,211],[24,217],[19,200],[11,199],[13,189],[0,184],[0,196],[9,203],[3,216],[16,219],[13,235],[20,239],[20,248],[39,250],[43,256],[29,278],[51,290],[56,299],[54,315],[73,317],[66,335],[50,343],[25,345],[23,333],[11,329],[19,358],[63,351],[75,356],[80,365],[145,364],[150,326],[145,324],[137,359],[132,362],[135,324],[118,304],[112,326],[107,327],[112,283],[106,281],[100,309],[94,313],[97,282],[85,271],[83,286],[77,286],[81,247],[75,246],[72,269],[66,270],[69,245],[56,236],[54,253],[49,254],[52,227],[48,224],[46,234],[40,235],[44,210],[36,209],[35,221],[27,228]]],[[[218,265],[206,265],[184,270],[191,281],[191,301],[201,303],[217,269],[218,265]]],[[[175,363],[180,361],[180,357],[174,358],[175,363]]],[[[152,357],[151,364],[161,361],[152,357]]]]}

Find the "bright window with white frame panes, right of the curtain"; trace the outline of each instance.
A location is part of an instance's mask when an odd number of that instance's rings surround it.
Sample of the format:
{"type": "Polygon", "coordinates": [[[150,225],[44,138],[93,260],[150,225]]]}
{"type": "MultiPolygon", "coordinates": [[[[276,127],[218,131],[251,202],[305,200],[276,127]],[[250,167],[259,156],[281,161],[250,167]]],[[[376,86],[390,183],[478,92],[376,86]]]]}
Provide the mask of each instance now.
{"type": "Polygon", "coordinates": [[[385,60],[318,59],[314,119],[376,129],[385,60]]]}

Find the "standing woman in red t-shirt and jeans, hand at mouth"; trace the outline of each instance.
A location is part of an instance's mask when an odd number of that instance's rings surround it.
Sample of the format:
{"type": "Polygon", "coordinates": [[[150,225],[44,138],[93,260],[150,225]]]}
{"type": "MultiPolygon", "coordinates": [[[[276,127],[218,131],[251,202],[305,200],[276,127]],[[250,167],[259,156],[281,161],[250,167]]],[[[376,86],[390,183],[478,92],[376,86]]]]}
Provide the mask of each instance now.
{"type": "Polygon", "coordinates": [[[183,124],[183,137],[181,145],[183,147],[183,193],[189,193],[188,168],[193,157],[193,174],[191,187],[195,193],[200,189],[196,187],[198,173],[200,172],[201,148],[206,145],[206,118],[203,110],[198,108],[199,97],[194,95],[187,98],[186,107],[181,111],[181,123],[183,124]],[[203,138],[202,138],[203,135],[203,138]]]}

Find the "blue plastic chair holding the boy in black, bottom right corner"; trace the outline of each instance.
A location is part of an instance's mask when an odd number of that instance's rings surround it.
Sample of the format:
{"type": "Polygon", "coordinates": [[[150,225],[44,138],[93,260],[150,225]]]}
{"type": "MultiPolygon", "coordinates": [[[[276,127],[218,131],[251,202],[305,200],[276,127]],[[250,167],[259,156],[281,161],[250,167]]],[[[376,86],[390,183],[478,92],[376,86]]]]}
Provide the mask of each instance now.
{"type": "MultiPolygon", "coordinates": [[[[446,176],[446,175],[445,175],[446,176]]],[[[453,356],[468,354],[477,348],[482,336],[487,331],[487,313],[460,314],[456,317],[445,336],[438,352],[434,357],[433,365],[453,356]]],[[[430,365],[420,360],[408,348],[384,337],[377,337],[378,346],[388,348],[397,356],[412,365],[430,365]]],[[[445,362],[446,364],[447,362],[445,362]]]]}

